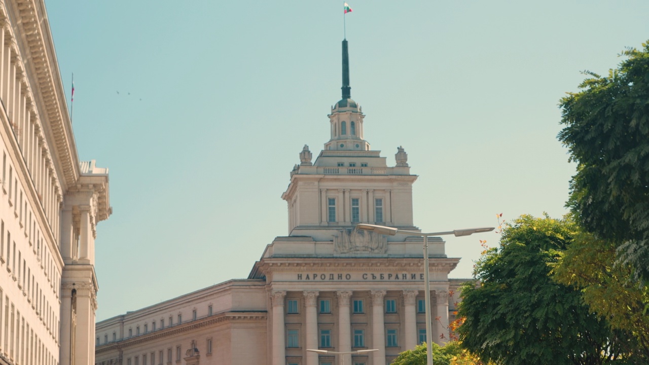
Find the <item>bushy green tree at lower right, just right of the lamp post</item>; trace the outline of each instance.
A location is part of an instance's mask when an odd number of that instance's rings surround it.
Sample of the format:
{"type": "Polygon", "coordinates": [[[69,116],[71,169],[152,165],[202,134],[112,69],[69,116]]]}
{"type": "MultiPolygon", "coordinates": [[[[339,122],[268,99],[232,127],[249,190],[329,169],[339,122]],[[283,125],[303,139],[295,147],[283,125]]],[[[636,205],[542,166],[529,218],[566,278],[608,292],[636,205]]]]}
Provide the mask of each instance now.
{"type": "Polygon", "coordinates": [[[624,339],[578,290],[549,275],[577,233],[572,221],[547,216],[521,216],[505,227],[500,247],[482,256],[476,281],[462,288],[462,346],[496,364],[623,364],[624,339]]]}

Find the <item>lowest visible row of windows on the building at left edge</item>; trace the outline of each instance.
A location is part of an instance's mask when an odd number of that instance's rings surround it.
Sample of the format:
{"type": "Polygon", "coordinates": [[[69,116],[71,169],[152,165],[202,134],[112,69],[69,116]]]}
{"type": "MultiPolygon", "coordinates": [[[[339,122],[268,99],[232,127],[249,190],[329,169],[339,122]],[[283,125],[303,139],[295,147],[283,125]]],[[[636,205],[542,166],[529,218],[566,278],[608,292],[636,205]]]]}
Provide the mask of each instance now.
{"type": "MultiPolygon", "coordinates": [[[[33,324],[21,315],[18,307],[4,297],[0,288],[0,351],[12,359],[14,364],[50,364],[58,365],[58,358],[45,347],[45,343],[34,331],[33,324]],[[4,312],[4,313],[3,313],[4,312]]],[[[51,333],[51,331],[50,331],[51,333]]]]}

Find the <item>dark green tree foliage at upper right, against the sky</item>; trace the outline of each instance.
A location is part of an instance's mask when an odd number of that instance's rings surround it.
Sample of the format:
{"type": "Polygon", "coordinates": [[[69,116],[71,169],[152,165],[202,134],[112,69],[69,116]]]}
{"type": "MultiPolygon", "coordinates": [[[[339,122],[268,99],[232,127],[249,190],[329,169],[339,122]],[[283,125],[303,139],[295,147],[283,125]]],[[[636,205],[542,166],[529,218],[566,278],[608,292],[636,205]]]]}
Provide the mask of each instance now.
{"type": "Polygon", "coordinates": [[[649,44],[627,49],[607,76],[586,71],[561,99],[559,140],[578,163],[568,205],[589,233],[611,240],[618,262],[649,279],[649,44]]]}

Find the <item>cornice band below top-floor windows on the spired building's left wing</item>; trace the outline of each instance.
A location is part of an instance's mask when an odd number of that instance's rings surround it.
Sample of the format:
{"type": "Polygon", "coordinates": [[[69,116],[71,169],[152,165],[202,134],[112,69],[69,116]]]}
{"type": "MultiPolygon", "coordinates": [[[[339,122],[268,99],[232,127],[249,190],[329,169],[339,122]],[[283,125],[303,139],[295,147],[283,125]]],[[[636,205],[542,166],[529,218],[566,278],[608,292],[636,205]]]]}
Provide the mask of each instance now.
{"type": "Polygon", "coordinates": [[[159,340],[161,338],[166,338],[169,336],[175,336],[176,334],[186,333],[190,331],[195,331],[203,327],[208,327],[210,325],[215,325],[217,323],[223,323],[226,321],[265,321],[268,318],[267,312],[225,312],[221,314],[215,314],[203,320],[191,321],[183,325],[177,325],[174,327],[169,327],[167,329],[161,329],[154,331],[149,334],[142,334],[140,336],[132,337],[127,340],[121,340],[117,342],[110,342],[109,344],[101,345],[95,347],[95,353],[107,353],[114,350],[123,350],[126,347],[137,346],[145,342],[159,340]]]}

